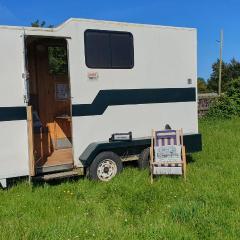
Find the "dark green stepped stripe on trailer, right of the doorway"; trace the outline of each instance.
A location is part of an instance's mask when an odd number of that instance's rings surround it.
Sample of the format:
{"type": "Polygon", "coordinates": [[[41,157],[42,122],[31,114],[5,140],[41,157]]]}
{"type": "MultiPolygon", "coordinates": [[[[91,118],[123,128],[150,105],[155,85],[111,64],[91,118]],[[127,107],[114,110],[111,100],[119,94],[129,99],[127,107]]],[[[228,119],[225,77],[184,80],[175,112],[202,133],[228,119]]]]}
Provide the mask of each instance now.
{"type": "Polygon", "coordinates": [[[74,104],[73,116],[102,115],[108,106],[196,101],[195,88],[101,90],[91,104],[74,104]]]}

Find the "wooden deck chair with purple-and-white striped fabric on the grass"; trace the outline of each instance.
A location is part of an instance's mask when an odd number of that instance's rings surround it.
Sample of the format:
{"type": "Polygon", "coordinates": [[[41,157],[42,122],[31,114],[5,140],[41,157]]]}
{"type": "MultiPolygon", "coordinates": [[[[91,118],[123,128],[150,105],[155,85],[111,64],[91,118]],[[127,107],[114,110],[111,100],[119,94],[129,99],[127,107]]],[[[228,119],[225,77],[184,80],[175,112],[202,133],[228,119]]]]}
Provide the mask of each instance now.
{"type": "Polygon", "coordinates": [[[181,130],[152,130],[150,149],[151,183],[154,175],[183,175],[186,179],[186,150],[181,130]]]}

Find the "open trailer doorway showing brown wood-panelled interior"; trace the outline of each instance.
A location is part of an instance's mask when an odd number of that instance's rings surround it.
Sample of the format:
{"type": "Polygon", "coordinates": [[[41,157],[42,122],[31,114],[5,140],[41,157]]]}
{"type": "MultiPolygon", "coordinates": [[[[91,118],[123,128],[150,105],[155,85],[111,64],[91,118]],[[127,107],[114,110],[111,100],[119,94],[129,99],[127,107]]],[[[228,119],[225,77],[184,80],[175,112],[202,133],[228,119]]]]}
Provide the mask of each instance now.
{"type": "Polygon", "coordinates": [[[65,39],[28,37],[29,106],[36,174],[71,170],[72,116],[65,39]]]}

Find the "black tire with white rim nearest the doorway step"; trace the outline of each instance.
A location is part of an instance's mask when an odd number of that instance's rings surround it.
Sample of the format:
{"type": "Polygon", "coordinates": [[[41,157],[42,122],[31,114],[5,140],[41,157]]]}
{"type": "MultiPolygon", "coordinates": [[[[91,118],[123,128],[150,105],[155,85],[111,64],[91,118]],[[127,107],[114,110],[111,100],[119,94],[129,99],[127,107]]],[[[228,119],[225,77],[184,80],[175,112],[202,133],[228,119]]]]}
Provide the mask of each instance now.
{"type": "Polygon", "coordinates": [[[92,180],[110,181],[123,169],[120,157],[113,152],[101,152],[87,169],[87,177],[92,180]]]}

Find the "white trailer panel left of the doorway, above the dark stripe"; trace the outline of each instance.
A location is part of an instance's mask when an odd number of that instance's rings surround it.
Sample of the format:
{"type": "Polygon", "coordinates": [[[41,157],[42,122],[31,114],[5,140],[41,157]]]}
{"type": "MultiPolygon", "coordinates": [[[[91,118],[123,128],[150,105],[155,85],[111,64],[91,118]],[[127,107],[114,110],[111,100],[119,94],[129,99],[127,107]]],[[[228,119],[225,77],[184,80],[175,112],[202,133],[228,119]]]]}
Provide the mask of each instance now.
{"type": "Polygon", "coordinates": [[[0,30],[0,107],[23,106],[23,32],[0,30]]]}

